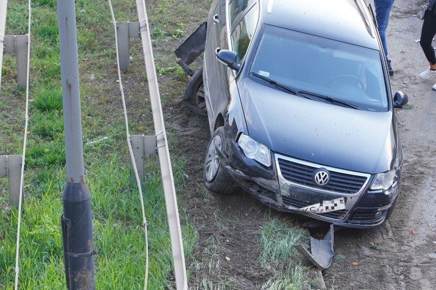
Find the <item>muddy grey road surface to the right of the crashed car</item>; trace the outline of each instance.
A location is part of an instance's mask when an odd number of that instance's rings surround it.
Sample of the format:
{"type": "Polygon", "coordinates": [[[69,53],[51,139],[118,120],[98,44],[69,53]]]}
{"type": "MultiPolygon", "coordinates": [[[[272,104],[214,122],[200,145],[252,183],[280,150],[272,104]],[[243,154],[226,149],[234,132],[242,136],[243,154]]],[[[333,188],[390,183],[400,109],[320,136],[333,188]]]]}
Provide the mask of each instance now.
{"type": "Polygon", "coordinates": [[[409,96],[409,107],[397,110],[404,149],[401,196],[382,227],[337,232],[339,260],[323,273],[327,288],[436,289],[436,79],[418,78],[428,66],[416,42],[422,20],[412,16],[421,2],[396,0],[387,32],[393,92],[409,96]]]}

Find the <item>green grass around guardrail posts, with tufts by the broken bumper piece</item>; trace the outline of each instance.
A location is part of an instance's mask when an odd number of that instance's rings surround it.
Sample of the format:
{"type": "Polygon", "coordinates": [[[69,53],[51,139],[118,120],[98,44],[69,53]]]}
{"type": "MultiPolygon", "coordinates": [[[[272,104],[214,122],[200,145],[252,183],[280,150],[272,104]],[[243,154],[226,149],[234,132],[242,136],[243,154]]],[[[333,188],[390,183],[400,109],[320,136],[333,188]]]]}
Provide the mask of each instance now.
{"type": "MultiPolygon", "coordinates": [[[[147,2],[147,13],[155,45],[155,61],[164,104],[178,102],[189,79],[174,63],[175,41],[182,40],[205,15],[192,13],[201,7],[207,13],[211,0],[154,0],[147,2]],[[171,43],[171,44],[168,44],[171,43]],[[170,47],[170,49],[168,49],[170,47]]],[[[134,2],[113,1],[118,21],[137,21],[134,2]]],[[[8,3],[6,34],[27,33],[27,3],[8,3]]],[[[76,1],[78,65],[80,75],[81,120],[85,180],[92,195],[97,289],[141,289],[145,275],[145,237],[142,229],[139,191],[130,182],[124,120],[115,61],[113,24],[106,1],[76,1]],[[86,144],[90,141],[95,143],[86,144]]],[[[63,140],[62,94],[58,46],[56,1],[32,2],[32,47],[30,119],[26,152],[25,201],[20,231],[19,288],[65,288],[63,251],[60,236],[62,191],[66,184],[66,156],[63,140]]],[[[130,134],[154,134],[147,79],[139,39],[130,40],[130,67],[122,75],[130,134]],[[151,133],[150,133],[151,132],[151,133]]],[[[22,154],[26,92],[16,85],[13,56],[5,55],[0,91],[0,154],[22,154]]],[[[176,146],[176,132],[169,127],[170,152],[176,146]]],[[[188,176],[186,158],[172,155],[176,189],[188,176]]],[[[148,289],[173,289],[172,256],[166,220],[159,162],[145,156],[142,184],[148,223],[148,289]]],[[[201,186],[200,186],[201,187],[201,186]]],[[[13,289],[17,209],[7,205],[7,180],[0,179],[0,289],[13,289]]],[[[212,200],[204,187],[202,198],[212,200]]],[[[180,204],[180,203],[179,203],[180,204]]],[[[197,261],[197,225],[183,207],[179,208],[184,252],[189,277],[200,277],[207,269],[212,278],[201,276],[191,289],[237,289],[237,281],[220,276],[219,239],[211,236],[199,247],[206,261],[197,261]],[[188,261],[190,263],[188,263],[188,261]],[[201,263],[206,263],[201,265],[201,263]],[[220,281],[216,281],[216,276],[220,281]]],[[[211,213],[212,214],[212,213],[211,213]]],[[[216,226],[234,229],[240,221],[215,215],[216,226]]],[[[267,220],[255,232],[263,245],[259,261],[277,271],[263,289],[299,289],[304,267],[290,263],[298,254],[292,243],[306,243],[306,232],[278,220],[267,220]]]]}

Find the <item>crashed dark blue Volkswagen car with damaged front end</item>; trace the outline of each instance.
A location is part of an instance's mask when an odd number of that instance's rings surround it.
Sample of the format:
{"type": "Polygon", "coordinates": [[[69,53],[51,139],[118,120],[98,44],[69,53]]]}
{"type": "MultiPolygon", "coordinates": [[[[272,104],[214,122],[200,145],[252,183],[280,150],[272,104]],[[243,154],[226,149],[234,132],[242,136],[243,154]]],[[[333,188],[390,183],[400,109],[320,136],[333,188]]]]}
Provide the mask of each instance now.
{"type": "Polygon", "coordinates": [[[281,210],[375,227],[403,154],[374,13],[362,0],[214,0],[185,101],[207,114],[206,187],[281,210]]]}

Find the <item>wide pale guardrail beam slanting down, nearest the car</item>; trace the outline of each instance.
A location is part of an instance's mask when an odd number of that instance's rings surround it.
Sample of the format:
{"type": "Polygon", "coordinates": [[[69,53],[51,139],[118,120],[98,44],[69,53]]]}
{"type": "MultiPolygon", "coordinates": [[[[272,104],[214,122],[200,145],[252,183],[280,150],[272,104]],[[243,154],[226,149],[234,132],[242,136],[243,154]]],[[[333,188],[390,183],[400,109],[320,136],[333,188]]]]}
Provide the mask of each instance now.
{"type": "Polygon", "coordinates": [[[150,33],[148,30],[148,18],[143,0],[136,0],[138,10],[142,46],[144,49],[145,70],[147,73],[148,89],[150,91],[151,110],[155,124],[158,156],[161,165],[162,185],[165,195],[165,206],[168,216],[168,228],[171,238],[172,258],[174,262],[174,276],[177,290],[188,289],[185,256],[180,229],[179,211],[177,207],[176,189],[169,159],[168,143],[162,115],[162,105],[159,95],[158,80],[155,62],[151,47],[150,33]]]}

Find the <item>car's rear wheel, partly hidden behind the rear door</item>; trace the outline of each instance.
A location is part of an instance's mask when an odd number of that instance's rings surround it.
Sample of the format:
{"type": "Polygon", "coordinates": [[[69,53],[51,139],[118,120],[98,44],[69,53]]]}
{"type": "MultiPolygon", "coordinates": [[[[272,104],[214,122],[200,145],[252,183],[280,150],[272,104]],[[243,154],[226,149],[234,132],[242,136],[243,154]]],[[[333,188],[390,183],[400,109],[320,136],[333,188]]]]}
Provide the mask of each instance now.
{"type": "Polygon", "coordinates": [[[183,101],[192,112],[207,116],[203,87],[203,66],[195,71],[195,74],[189,80],[183,101]]]}

